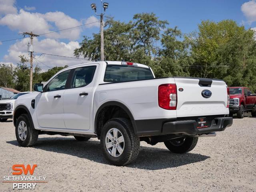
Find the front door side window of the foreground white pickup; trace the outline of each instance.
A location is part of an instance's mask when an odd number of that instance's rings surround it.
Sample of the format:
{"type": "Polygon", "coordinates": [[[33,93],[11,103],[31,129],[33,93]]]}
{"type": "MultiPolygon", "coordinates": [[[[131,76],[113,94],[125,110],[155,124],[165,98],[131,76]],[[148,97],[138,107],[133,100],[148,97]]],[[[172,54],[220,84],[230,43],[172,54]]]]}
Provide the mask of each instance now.
{"type": "Polygon", "coordinates": [[[66,88],[66,82],[68,79],[68,74],[71,70],[66,70],[57,76],[55,76],[46,86],[45,91],[56,91],[66,88]]]}

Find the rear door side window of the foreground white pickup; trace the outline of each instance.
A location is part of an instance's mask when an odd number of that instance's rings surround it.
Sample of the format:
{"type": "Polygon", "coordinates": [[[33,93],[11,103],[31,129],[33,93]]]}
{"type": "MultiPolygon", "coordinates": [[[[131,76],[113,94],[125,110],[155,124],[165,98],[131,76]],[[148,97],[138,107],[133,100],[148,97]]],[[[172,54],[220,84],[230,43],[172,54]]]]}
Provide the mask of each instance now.
{"type": "Polygon", "coordinates": [[[90,84],[90,82],[92,82],[95,70],[96,66],[76,68],[72,78],[71,88],[84,87],[90,84]]]}

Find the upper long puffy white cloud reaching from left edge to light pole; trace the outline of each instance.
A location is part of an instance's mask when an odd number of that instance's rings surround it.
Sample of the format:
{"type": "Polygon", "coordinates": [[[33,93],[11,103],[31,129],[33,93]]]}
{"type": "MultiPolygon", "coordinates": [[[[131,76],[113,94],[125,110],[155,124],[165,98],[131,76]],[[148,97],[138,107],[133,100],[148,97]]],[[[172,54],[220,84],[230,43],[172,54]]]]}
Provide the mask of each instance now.
{"type": "MultiPolygon", "coordinates": [[[[63,12],[47,12],[46,14],[31,13],[20,9],[18,13],[7,14],[0,18],[0,25],[6,25],[11,30],[19,30],[19,32],[34,32],[35,34],[44,34],[55,30],[62,30],[96,22],[98,19],[95,16],[90,16],[87,19],[80,21],[71,18],[63,12]]],[[[99,23],[89,24],[86,28],[99,27],[99,23]]],[[[46,34],[46,38],[67,38],[69,40],[77,40],[80,38],[82,28],[72,28],[60,32],[46,34]]]]}

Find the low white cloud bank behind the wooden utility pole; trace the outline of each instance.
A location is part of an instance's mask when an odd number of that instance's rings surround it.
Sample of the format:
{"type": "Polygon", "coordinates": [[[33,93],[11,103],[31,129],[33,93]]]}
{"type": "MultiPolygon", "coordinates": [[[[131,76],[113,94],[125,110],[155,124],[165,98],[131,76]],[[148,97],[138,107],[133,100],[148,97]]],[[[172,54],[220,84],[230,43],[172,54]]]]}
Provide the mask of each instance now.
{"type": "MultiPolygon", "coordinates": [[[[19,62],[19,55],[25,55],[29,57],[27,52],[27,45],[28,40],[23,39],[21,41],[17,41],[15,44],[11,45],[8,49],[8,55],[4,56],[3,62],[12,62],[16,64],[19,62]]],[[[50,55],[42,55],[40,53],[48,53],[60,56],[70,56],[74,57],[74,49],[79,48],[79,43],[76,41],[70,41],[69,43],[58,42],[54,39],[43,39],[38,40],[38,38],[34,38],[34,54],[35,57],[46,64],[47,66],[54,67],[54,66],[72,66],[75,64],[80,64],[86,62],[86,60],[80,59],[72,59],[72,58],[64,58],[64,57],[57,57],[57,56],[50,56],[50,55]],[[40,57],[39,57],[40,56],[40,57]]],[[[46,67],[42,63],[38,62],[34,59],[34,65],[38,64],[41,67],[46,67]]],[[[29,64],[28,64],[29,66],[29,64]]]]}

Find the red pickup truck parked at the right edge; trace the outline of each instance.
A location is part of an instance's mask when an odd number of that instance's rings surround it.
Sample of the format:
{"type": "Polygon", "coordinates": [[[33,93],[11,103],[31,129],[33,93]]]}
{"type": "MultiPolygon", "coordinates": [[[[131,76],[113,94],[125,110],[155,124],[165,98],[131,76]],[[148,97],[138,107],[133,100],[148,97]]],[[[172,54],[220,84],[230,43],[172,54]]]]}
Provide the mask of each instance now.
{"type": "Polygon", "coordinates": [[[229,87],[230,104],[229,114],[237,114],[238,118],[244,118],[244,111],[252,112],[256,116],[256,94],[252,94],[248,87],[229,87]]]}

